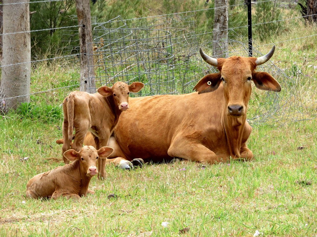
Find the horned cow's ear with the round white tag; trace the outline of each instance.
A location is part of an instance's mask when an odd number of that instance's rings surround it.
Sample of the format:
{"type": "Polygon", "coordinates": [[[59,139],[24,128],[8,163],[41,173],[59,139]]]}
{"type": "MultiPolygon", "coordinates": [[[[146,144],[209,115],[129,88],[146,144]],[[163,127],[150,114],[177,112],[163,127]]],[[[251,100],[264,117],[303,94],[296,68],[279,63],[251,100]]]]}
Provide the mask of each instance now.
{"type": "Polygon", "coordinates": [[[198,91],[198,94],[215,91],[220,85],[220,78],[220,73],[208,74],[200,79],[193,90],[198,91]]]}

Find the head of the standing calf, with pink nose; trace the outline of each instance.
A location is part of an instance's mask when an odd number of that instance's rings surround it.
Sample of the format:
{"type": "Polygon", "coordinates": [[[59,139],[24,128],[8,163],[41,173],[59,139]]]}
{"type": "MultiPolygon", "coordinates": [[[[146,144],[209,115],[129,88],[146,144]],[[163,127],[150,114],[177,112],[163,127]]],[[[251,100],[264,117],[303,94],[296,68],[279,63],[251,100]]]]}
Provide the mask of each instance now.
{"type": "Polygon", "coordinates": [[[98,88],[98,93],[103,96],[113,96],[115,104],[121,111],[129,108],[128,100],[130,92],[137,93],[144,87],[142,82],[133,82],[127,85],[124,82],[116,82],[112,87],[102,86],[98,88]]]}

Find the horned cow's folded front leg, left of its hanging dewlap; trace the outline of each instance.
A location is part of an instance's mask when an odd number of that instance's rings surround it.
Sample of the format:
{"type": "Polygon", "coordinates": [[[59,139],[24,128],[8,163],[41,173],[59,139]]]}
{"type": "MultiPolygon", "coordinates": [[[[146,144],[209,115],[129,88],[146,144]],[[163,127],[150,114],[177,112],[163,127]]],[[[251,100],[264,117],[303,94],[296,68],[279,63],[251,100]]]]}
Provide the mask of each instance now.
{"type": "Polygon", "coordinates": [[[179,157],[188,161],[215,164],[225,162],[228,158],[218,157],[213,151],[197,141],[184,137],[175,138],[167,151],[171,157],[179,157]]]}

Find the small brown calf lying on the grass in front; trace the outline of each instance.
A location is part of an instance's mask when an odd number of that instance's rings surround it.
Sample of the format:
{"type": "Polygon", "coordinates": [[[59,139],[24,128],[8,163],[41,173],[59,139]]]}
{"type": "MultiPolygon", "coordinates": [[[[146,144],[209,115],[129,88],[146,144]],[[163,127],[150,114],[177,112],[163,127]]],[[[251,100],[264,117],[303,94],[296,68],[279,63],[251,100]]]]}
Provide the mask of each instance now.
{"type": "Polygon", "coordinates": [[[97,160],[105,160],[113,152],[111,147],[102,147],[98,151],[92,146],[84,146],[79,152],[71,149],[64,153],[69,165],[56,167],[40,173],[29,180],[26,185],[28,198],[72,197],[78,199],[87,193],[90,179],[98,173],[97,160]]]}

